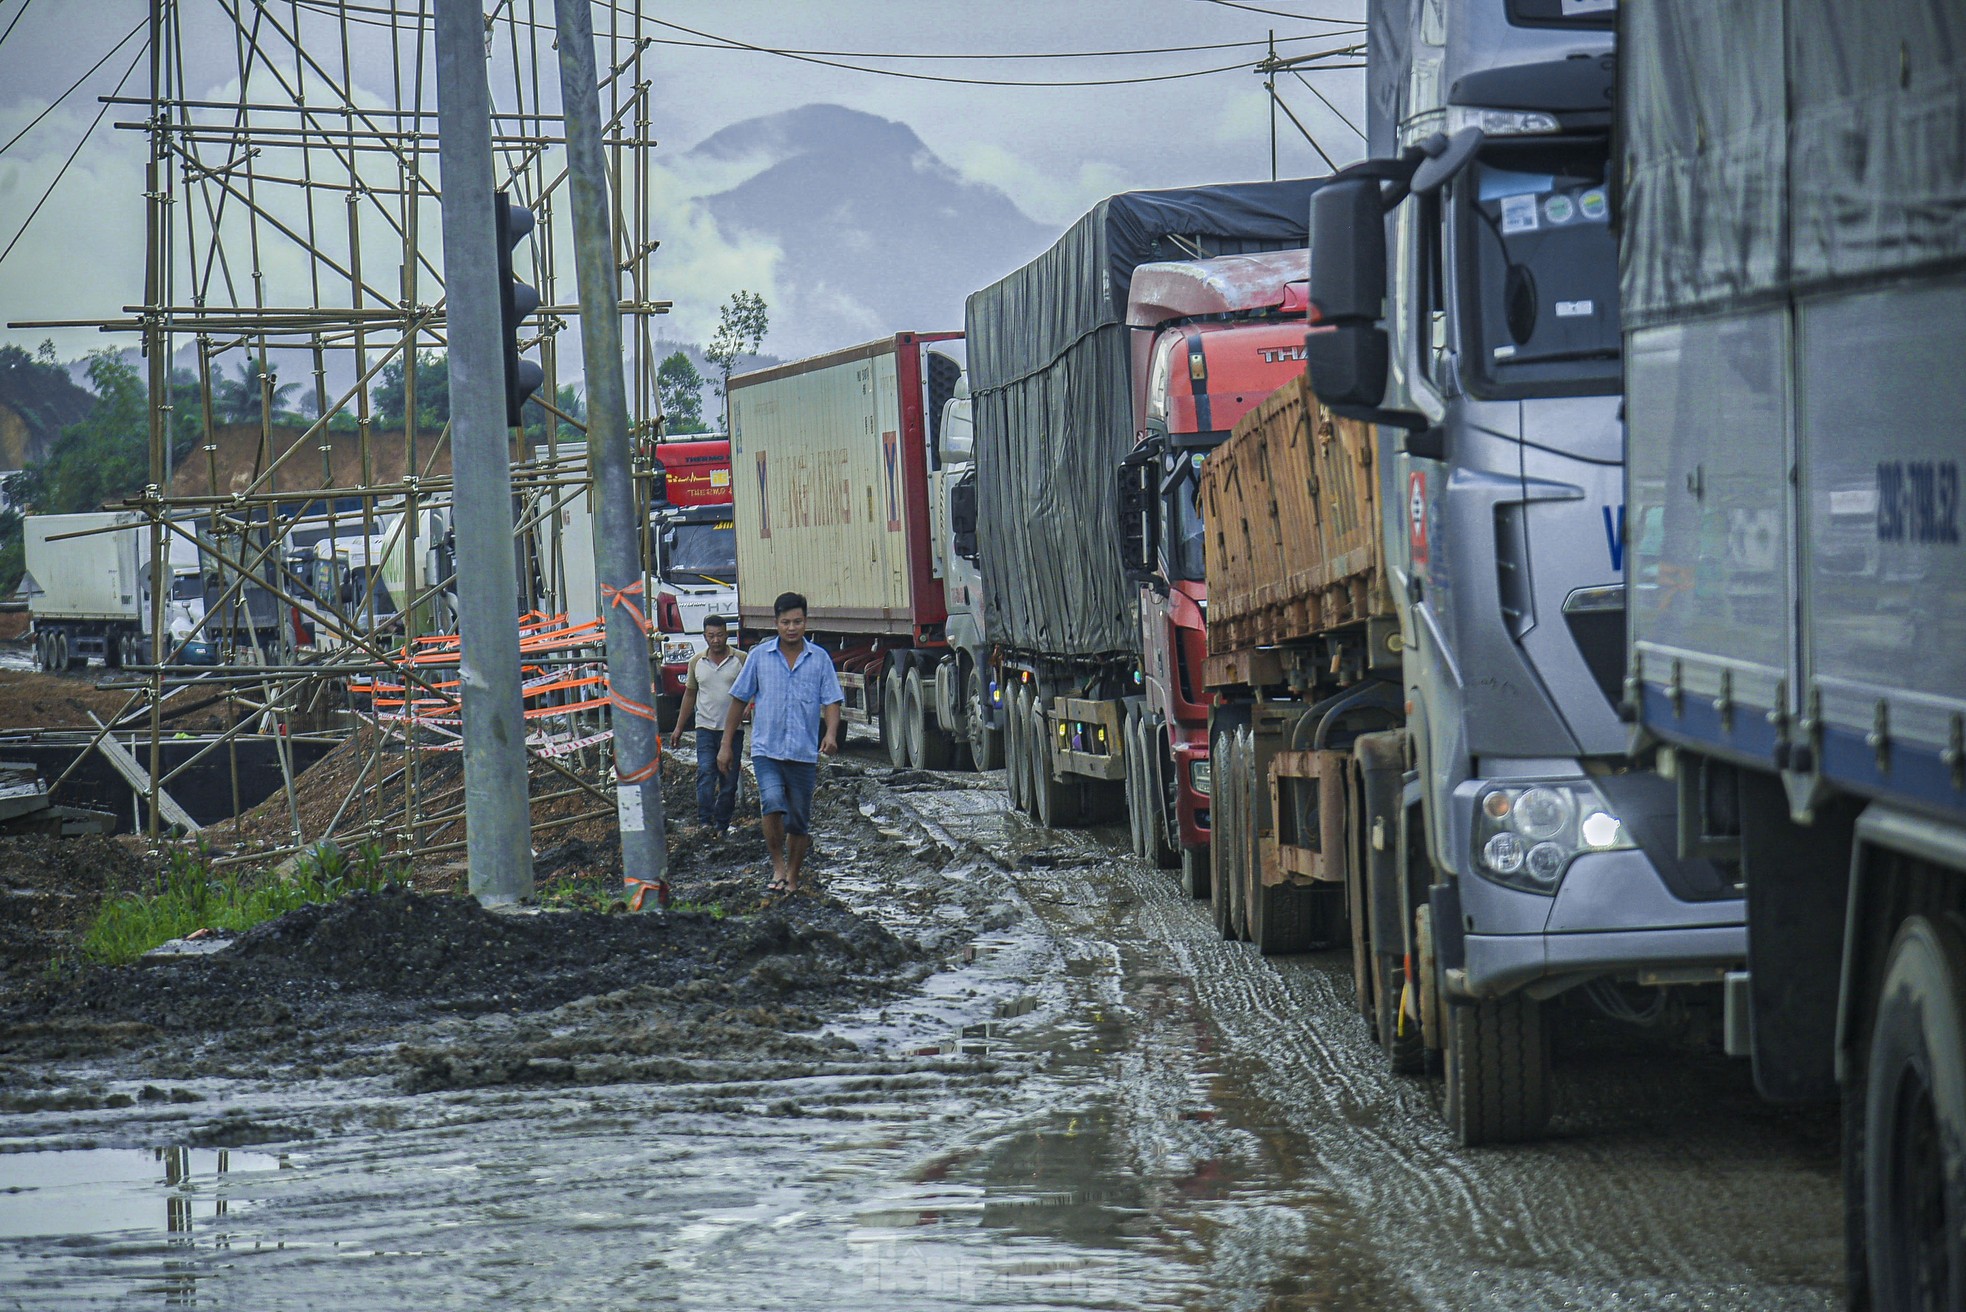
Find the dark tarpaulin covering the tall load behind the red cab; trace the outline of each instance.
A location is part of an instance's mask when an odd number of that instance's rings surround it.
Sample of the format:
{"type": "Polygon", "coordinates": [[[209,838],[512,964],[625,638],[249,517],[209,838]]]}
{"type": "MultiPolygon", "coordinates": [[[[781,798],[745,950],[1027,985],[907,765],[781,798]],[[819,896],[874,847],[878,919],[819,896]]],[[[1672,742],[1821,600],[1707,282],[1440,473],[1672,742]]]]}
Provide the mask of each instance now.
{"type": "Polygon", "coordinates": [[[1134,441],[1127,289],[1152,260],[1307,244],[1307,179],[1109,197],[969,297],[977,547],[991,641],[1062,657],[1138,647],[1117,466],[1134,441]]]}

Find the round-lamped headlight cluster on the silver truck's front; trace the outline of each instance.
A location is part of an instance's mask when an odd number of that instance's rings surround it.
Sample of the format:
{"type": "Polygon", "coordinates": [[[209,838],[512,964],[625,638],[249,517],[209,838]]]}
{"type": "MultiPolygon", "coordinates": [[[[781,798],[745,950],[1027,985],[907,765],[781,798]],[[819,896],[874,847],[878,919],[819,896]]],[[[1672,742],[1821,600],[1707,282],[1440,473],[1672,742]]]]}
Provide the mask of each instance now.
{"type": "Polygon", "coordinates": [[[1474,803],[1474,867],[1530,893],[1555,893],[1585,852],[1636,846],[1589,779],[1496,785],[1474,803]]]}

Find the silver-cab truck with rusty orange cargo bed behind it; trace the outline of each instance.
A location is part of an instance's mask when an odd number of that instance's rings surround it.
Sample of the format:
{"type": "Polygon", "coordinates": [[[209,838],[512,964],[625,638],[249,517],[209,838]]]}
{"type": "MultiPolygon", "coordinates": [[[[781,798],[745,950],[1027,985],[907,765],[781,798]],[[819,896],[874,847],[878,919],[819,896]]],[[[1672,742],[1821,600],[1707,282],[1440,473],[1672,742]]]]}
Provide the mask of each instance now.
{"type": "Polygon", "coordinates": [[[1543,1131],[1573,1003],[1718,1001],[1746,934],[1616,716],[1612,12],[1404,8],[1372,12],[1374,157],[1311,197],[1315,391],[1203,466],[1213,893],[1262,950],[1351,942],[1476,1145],[1543,1131]]]}

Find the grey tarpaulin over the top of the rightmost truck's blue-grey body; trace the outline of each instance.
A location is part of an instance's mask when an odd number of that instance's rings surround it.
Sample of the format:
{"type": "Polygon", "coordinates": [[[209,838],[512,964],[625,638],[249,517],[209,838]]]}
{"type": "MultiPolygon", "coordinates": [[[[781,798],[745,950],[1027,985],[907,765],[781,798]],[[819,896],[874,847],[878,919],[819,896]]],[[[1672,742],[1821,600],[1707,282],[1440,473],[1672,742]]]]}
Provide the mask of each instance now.
{"type": "Polygon", "coordinates": [[[1966,6],[1626,0],[1624,321],[1966,260],[1966,6]]]}

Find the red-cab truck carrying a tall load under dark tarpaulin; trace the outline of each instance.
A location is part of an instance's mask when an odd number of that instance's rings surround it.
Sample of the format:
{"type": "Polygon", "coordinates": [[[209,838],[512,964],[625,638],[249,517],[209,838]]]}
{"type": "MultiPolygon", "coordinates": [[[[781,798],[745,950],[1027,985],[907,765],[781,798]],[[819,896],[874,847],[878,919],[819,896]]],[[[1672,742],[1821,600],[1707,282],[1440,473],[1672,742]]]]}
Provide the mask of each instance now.
{"type": "Polygon", "coordinates": [[[1011,801],[1048,826],[1125,808],[1134,850],[1180,860],[1195,893],[1209,761],[1193,472],[1300,368],[1315,185],[1109,197],[967,305],[1011,801]]]}

